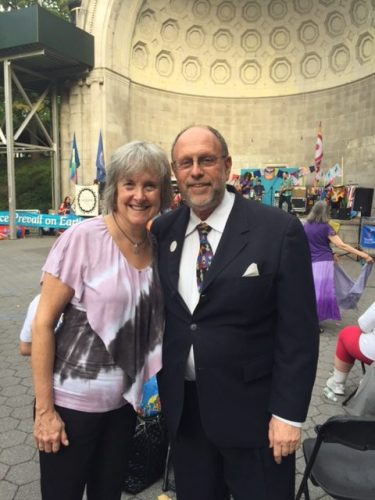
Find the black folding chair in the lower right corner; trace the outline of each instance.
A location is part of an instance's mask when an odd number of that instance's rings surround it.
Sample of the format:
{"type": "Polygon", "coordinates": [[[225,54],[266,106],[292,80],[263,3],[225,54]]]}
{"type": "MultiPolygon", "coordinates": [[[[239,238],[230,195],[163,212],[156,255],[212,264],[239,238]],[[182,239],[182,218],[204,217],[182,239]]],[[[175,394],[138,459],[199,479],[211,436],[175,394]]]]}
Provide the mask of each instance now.
{"type": "Polygon", "coordinates": [[[303,441],[305,472],[296,499],[310,500],[308,479],[332,498],[374,500],[375,419],[338,415],[303,441]]]}

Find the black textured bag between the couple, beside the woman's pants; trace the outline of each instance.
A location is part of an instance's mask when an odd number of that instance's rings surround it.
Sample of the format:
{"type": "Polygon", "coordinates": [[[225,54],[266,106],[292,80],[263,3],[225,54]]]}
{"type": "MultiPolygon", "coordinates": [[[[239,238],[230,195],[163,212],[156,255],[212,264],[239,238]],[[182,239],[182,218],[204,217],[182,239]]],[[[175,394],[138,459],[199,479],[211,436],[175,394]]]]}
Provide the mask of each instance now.
{"type": "Polygon", "coordinates": [[[123,490],[133,495],[161,478],[168,451],[168,436],[161,413],[138,417],[123,490]]]}

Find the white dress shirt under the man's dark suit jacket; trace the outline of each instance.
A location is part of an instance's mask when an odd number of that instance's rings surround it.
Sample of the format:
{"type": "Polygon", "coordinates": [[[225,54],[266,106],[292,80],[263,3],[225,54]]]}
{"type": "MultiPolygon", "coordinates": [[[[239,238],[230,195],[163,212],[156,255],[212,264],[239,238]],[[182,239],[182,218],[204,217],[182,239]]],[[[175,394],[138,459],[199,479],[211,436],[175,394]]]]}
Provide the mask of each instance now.
{"type": "MultiPolygon", "coordinates": [[[[211,245],[212,253],[215,255],[220,238],[224,232],[224,228],[229,218],[229,214],[233,208],[235,195],[229,191],[225,191],[224,197],[220,205],[212,212],[212,214],[204,221],[212,229],[207,235],[208,242],[211,245]]],[[[199,302],[199,291],[197,285],[196,263],[199,252],[199,233],[197,225],[202,222],[200,218],[190,210],[190,219],[186,228],[185,240],[180,261],[180,277],[178,281],[178,291],[184,299],[185,304],[191,313],[194,312],[199,302]]],[[[190,348],[189,356],[186,363],[185,371],[186,380],[195,380],[195,363],[193,346],[190,348]]],[[[291,389],[292,390],[292,389],[291,389]]],[[[291,422],[281,417],[275,418],[282,420],[288,424],[300,427],[298,422],[291,422]]]]}

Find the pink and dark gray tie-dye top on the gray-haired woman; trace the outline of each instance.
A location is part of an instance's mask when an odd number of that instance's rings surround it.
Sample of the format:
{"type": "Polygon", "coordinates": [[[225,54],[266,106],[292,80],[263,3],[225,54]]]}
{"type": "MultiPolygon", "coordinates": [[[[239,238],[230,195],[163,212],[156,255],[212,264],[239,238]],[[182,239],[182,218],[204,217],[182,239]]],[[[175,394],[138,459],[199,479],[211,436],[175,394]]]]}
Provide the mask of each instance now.
{"type": "MultiPolygon", "coordinates": [[[[151,236],[152,237],[152,236],[151,236]]],[[[102,216],[65,231],[43,272],[74,290],[56,331],[55,404],[104,412],[138,407],[161,368],[164,304],[156,266],[132,267],[102,216]]]]}

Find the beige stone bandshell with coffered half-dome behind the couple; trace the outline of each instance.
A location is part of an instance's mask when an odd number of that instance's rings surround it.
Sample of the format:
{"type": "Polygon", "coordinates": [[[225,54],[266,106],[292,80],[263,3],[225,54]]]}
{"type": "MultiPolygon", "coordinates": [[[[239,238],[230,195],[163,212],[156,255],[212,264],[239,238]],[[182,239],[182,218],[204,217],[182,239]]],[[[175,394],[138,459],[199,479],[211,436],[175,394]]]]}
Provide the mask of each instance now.
{"type": "Polygon", "coordinates": [[[83,0],[78,25],[95,68],[66,85],[62,144],[65,172],[76,132],[80,182],[100,129],[108,161],[128,140],[168,151],[210,123],[239,169],[311,164],[321,121],[323,168],[343,159],[346,182],[375,184],[374,0],[83,0]]]}

